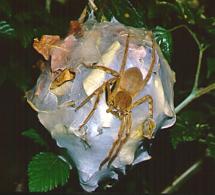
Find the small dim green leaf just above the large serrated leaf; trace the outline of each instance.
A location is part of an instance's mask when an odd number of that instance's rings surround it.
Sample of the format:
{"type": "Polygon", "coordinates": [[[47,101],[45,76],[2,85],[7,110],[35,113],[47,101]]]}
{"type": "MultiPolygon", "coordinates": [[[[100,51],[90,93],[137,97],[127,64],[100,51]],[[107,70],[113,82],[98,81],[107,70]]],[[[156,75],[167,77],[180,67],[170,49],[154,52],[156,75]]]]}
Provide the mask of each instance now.
{"type": "Polygon", "coordinates": [[[40,134],[37,133],[35,129],[27,129],[22,132],[22,135],[32,139],[35,143],[41,146],[47,146],[45,140],[41,137],[40,134]]]}

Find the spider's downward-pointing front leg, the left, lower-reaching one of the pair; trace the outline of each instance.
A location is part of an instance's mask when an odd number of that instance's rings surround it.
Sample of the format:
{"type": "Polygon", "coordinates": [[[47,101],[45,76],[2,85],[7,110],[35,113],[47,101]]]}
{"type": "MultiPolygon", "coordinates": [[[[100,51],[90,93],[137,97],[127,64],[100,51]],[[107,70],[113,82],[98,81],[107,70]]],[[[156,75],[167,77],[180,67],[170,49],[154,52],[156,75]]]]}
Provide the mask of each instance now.
{"type": "Polygon", "coordinates": [[[101,170],[101,168],[104,166],[104,164],[106,162],[108,162],[109,159],[111,158],[111,156],[112,156],[112,154],[113,154],[113,152],[115,150],[115,147],[117,146],[117,144],[119,143],[119,141],[120,141],[120,139],[122,137],[124,127],[125,127],[125,118],[122,119],[121,124],[120,124],[120,128],[118,130],[117,139],[113,142],[112,147],[111,147],[107,157],[100,163],[99,170],[101,170]]]}

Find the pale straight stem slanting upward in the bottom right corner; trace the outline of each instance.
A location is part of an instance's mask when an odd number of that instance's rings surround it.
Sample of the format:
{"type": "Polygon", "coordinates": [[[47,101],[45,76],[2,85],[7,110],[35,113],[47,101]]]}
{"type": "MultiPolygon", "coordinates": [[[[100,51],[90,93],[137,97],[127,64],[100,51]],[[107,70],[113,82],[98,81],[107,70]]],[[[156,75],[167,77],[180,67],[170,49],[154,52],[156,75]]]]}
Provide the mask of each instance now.
{"type": "Polygon", "coordinates": [[[178,188],[186,181],[188,180],[194,173],[196,173],[201,165],[203,163],[203,160],[198,160],[196,163],[194,163],[189,169],[187,169],[183,174],[181,174],[173,183],[165,188],[161,193],[165,194],[171,194],[178,190],[178,188]]]}

